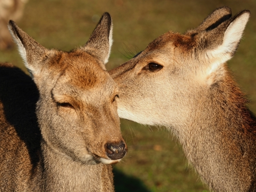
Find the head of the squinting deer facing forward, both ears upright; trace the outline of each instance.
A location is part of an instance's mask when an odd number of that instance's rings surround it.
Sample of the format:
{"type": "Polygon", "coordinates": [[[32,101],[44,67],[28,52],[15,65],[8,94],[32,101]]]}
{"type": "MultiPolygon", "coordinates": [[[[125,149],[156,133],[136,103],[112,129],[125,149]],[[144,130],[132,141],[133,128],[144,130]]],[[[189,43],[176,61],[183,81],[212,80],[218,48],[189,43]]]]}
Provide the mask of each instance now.
{"type": "Polygon", "coordinates": [[[120,161],[127,146],[116,111],[118,87],[105,69],[112,45],[109,13],[88,42],[70,52],[46,49],[13,21],[9,31],[40,93],[36,115],[45,145],[86,164],[120,161]]]}

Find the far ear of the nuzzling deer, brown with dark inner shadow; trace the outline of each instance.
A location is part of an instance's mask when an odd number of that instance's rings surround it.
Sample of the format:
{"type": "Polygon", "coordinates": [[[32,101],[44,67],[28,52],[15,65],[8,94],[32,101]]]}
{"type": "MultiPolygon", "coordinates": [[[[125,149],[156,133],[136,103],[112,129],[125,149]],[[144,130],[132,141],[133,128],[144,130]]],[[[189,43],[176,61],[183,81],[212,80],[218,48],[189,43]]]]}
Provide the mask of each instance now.
{"type": "Polygon", "coordinates": [[[196,28],[196,30],[211,30],[217,27],[222,22],[231,18],[231,16],[232,12],[229,7],[220,7],[212,11],[212,13],[203,20],[203,22],[196,28]]]}

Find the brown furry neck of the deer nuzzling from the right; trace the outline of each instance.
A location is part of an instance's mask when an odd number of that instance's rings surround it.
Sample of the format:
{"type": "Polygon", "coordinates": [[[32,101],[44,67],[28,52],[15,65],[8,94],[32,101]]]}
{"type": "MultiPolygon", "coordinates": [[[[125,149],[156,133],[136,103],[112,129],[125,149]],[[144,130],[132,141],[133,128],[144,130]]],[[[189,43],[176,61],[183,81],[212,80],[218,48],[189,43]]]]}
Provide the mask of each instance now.
{"type": "Polygon", "coordinates": [[[231,78],[203,94],[178,132],[183,150],[214,191],[248,190],[255,183],[255,116],[231,78]]]}

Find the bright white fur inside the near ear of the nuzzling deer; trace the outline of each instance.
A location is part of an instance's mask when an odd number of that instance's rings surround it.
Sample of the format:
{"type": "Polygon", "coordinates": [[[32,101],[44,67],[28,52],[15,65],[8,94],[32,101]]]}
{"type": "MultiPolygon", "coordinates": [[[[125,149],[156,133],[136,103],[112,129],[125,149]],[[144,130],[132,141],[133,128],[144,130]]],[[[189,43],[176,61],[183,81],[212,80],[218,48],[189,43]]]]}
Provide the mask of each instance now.
{"type": "Polygon", "coordinates": [[[214,50],[207,51],[206,58],[209,58],[212,63],[207,74],[211,74],[216,71],[221,64],[232,58],[243,35],[243,31],[249,17],[249,11],[243,11],[240,15],[238,14],[238,16],[227,27],[224,33],[222,45],[219,45],[214,50]]]}

